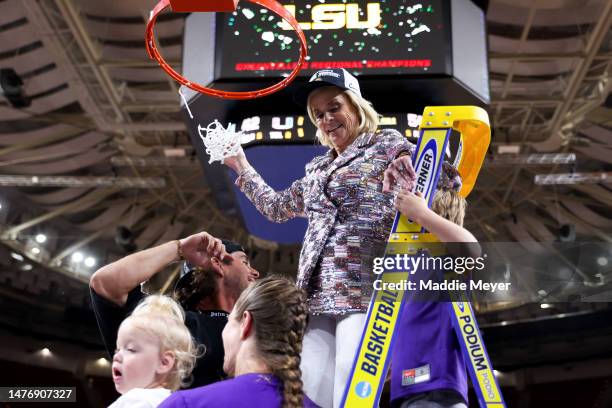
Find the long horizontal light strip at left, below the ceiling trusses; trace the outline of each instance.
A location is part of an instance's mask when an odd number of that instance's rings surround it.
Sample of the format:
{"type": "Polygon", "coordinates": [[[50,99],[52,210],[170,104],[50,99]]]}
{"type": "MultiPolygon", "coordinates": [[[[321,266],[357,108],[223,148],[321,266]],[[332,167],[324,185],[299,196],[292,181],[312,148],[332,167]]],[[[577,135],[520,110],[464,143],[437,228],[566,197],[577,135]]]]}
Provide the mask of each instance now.
{"type": "Polygon", "coordinates": [[[162,177],[0,176],[0,186],[164,188],[162,177]]]}

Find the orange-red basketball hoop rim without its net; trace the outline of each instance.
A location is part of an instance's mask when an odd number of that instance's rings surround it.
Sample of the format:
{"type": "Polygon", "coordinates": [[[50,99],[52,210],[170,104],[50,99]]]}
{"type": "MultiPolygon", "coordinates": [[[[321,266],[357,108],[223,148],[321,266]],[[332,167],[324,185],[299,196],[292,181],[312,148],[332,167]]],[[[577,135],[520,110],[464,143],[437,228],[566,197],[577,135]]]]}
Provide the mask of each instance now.
{"type": "Polygon", "coordinates": [[[289,13],[289,11],[287,11],[287,9],[281,6],[276,0],[242,0],[257,4],[261,7],[265,7],[268,10],[272,11],[274,14],[281,17],[283,20],[289,23],[291,27],[293,27],[293,29],[297,33],[298,39],[300,40],[300,58],[296,66],[286,78],[284,78],[282,81],[275,85],[257,91],[248,92],[231,92],[207,88],[198,83],[187,80],[181,74],[172,69],[172,67],[168,65],[168,63],[164,60],[162,55],[157,50],[153,28],[155,27],[157,17],[166,8],[172,5],[174,11],[232,11],[236,10],[236,5],[238,1],[239,0],[160,0],[160,2],[157,3],[155,8],[153,8],[153,10],[151,11],[151,16],[149,17],[145,33],[145,44],[147,48],[147,53],[149,54],[149,58],[156,59],[160,67],[177,82],[180,82],[181,84],[193,89],[194,91],[206,95],[216,96],[218,98],[223,99],[254,99],[280,91],[281,89],[289,85],[291,82],[293,82],[297,74],[300,72],[302,65],[306,61],[308,50],[306,46],[306,37],[304,36],[304,32],[300,28],[299,23],[296,21],[295,17],[293,17],[293,15],[289,13]]]}

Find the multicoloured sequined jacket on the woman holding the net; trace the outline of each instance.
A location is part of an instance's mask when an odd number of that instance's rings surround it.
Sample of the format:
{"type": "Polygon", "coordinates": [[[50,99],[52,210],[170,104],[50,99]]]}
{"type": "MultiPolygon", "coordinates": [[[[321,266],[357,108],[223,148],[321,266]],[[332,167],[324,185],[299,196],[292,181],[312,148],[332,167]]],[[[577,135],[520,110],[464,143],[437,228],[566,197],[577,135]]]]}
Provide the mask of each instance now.
{"type": "Polygon", "coordinates": [[[383,176],[414,145],[399,132],[364,133],[338,157],[330,150],[306,165],[306,175],[275,192],[249,169],[238,187],[268,219],[308,217],[297,284],[314,314],[364,312],[372,293],[372,262],[384,254],[395,210],[383,176]]]}

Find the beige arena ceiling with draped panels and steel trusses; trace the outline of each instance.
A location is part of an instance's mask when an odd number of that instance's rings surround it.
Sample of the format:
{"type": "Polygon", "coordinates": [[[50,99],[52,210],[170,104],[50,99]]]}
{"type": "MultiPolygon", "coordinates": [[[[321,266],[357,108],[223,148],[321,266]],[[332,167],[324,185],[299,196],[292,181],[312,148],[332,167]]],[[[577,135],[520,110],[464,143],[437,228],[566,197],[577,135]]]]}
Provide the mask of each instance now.
{"type": "MultiPolygon", "coordinates": [[[[72,254],[98,264],[121,256],[118,225],[139,248],[200,230],[248,241],[212,200],[177,84],[146,54],[153,5],[0,1],[0,67],[14,68],[32,97],[25,109],[0,98],[2,241],[82,282],[95,266],[75,266],[72,254]]],[[[593,181],[612,164],[611,15],[606,0],[489,2],[493,146],[467,218],[479,239],[552,241],[565,224],[582,240],[612,241],[609,180],[593,181]],[[500,154],[517,146],[518,156],[500,154]],[[534,156],[542,153],[576,160],[542,163],[534,156]],[[575,184],[534,182],[558,173],[596,174],[575,184]]],[[[184,17],[166,14],[156,28],[177,69],[184,17]]],[[[282,269],[282,256],[269,255],[267,267],[282,269]]]]}

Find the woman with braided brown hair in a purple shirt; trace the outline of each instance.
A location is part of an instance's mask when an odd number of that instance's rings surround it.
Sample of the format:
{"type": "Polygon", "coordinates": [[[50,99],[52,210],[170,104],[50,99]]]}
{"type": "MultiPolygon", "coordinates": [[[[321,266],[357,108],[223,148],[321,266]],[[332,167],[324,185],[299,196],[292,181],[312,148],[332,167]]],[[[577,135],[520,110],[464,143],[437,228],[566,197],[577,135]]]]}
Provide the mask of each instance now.
{"type": "Polygon", "coordinates": [[[302,391],[307,320],[306,295],[289,280],[272,276],[251,284],[223,330],[223,369],[234,378],[174,393],[160,408],[316,407],[302,391]]]}

